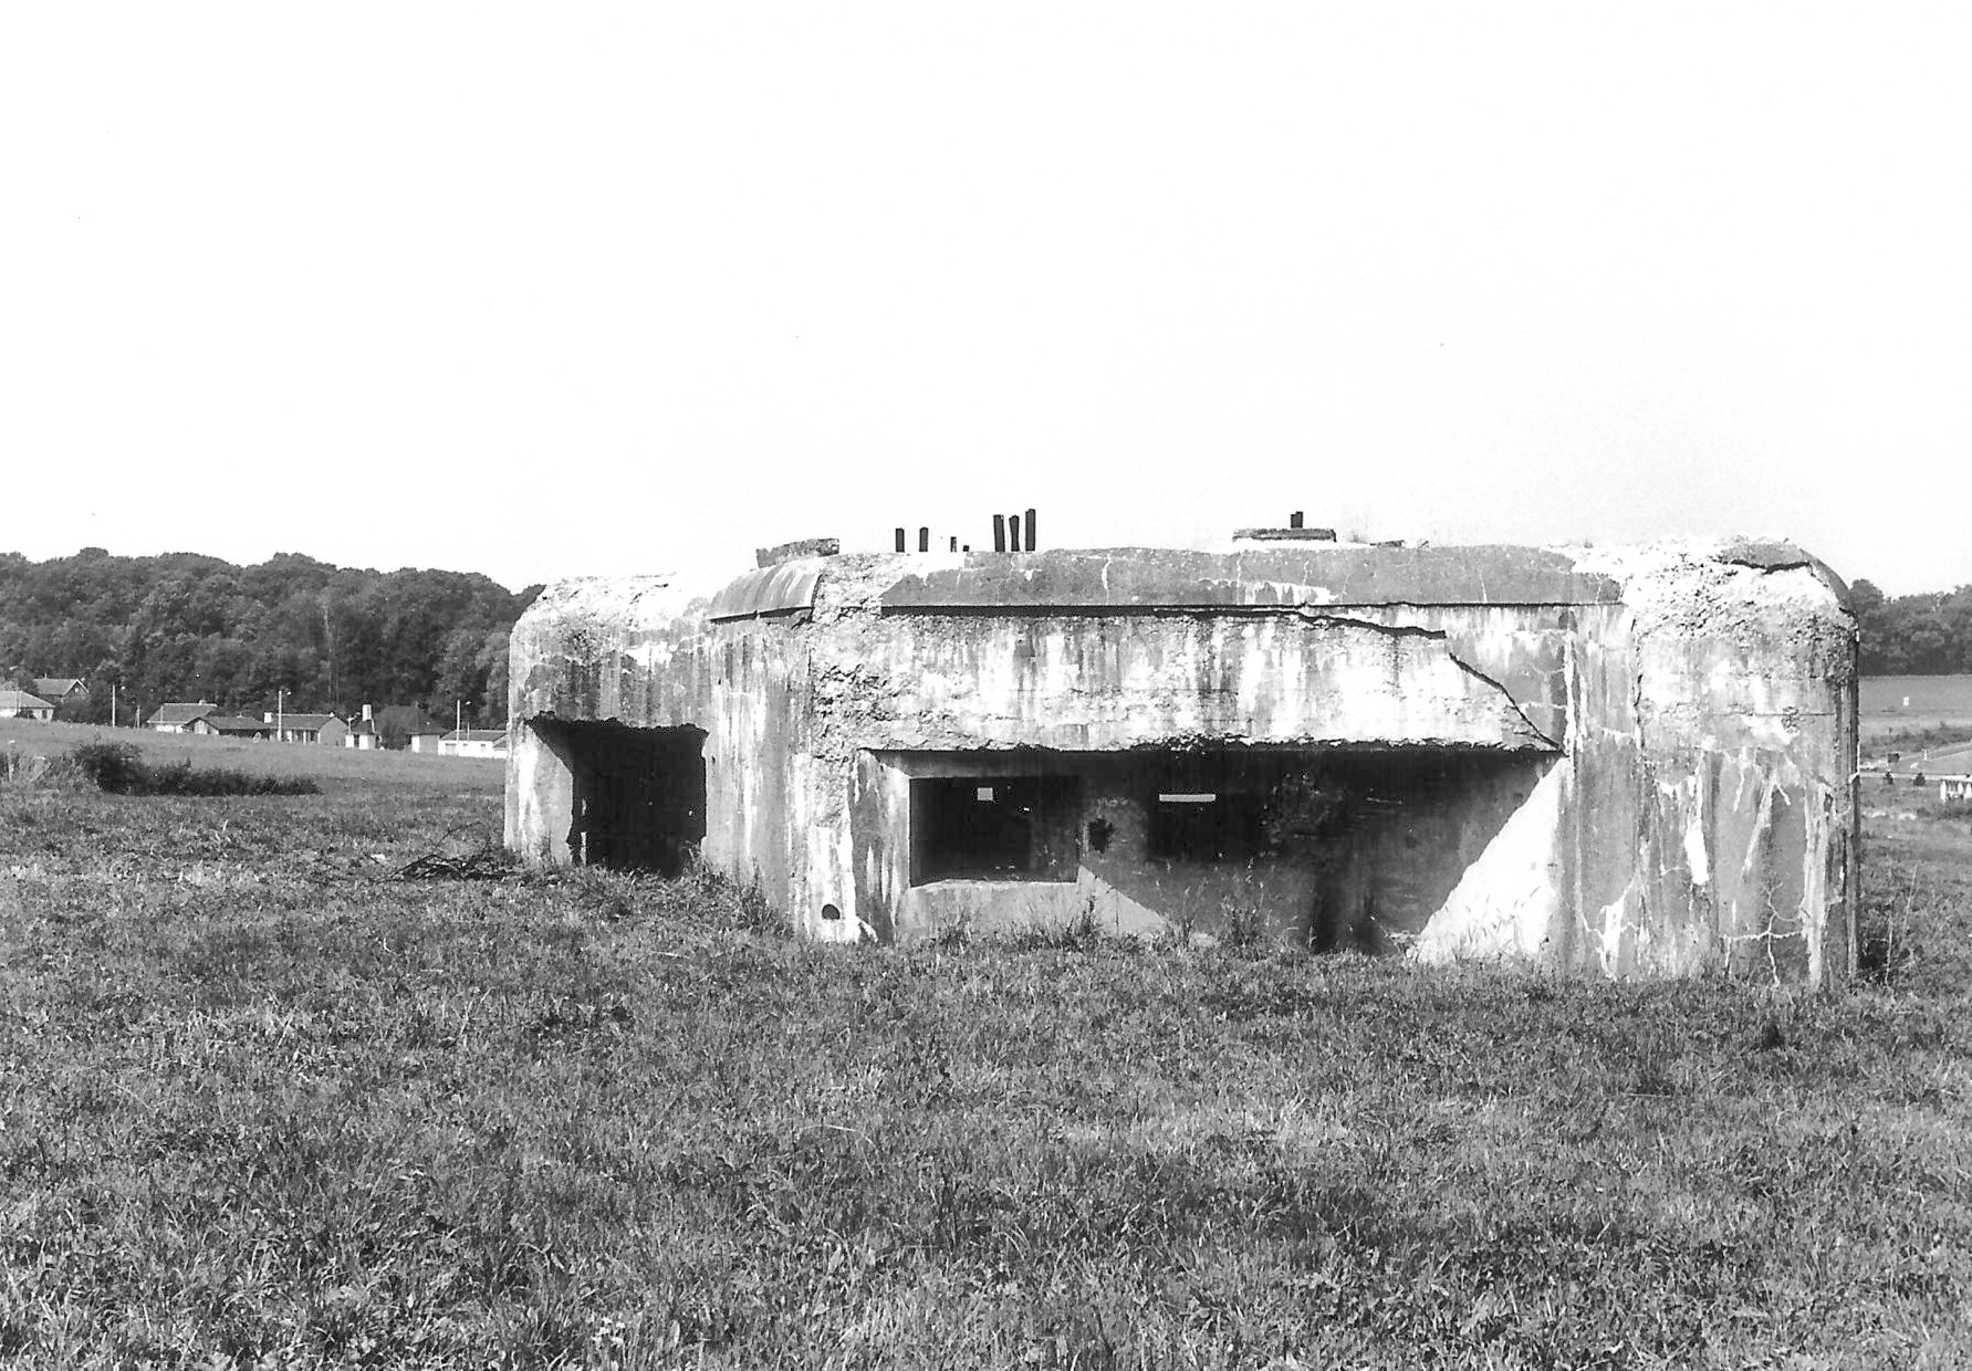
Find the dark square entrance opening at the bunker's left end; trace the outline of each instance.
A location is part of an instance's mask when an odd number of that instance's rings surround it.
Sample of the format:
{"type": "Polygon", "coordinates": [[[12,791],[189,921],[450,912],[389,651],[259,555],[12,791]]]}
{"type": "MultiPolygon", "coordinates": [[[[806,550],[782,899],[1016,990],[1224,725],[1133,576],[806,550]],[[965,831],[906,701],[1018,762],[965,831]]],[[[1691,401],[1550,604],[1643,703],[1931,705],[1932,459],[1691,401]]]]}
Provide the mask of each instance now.
{"type": "Polygon", "coordinates": [[[546,738],[570,769],[570,856],[678,876],[706,836],[704,730],[554,724],[546,738]]]}

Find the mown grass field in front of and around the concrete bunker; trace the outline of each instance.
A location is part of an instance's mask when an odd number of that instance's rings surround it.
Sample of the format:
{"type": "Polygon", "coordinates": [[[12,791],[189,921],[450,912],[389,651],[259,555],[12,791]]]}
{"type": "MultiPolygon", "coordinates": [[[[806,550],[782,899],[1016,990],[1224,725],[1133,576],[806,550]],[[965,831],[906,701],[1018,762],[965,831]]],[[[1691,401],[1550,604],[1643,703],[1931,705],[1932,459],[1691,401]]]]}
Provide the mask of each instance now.
{"type": "Polygon", "coordinates": [[[0,1361],[1972,1363],[1923,795],[1808,996],[816,949],[708,880],[390,880],[495,840],[497,765],[177,746],[323,793],[0,785],[0,1361]]]}

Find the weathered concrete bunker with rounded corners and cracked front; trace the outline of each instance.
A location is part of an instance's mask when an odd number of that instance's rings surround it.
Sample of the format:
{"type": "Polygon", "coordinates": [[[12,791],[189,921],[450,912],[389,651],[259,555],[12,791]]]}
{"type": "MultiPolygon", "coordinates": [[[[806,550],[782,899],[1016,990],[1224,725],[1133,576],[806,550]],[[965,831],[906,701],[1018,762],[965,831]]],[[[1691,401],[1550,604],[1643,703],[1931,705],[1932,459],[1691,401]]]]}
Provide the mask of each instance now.
{"type": "Polygon", "coordinates": [[[544,592],[509,846],[696,852],[818,939],[1854,967],[1856,621],[1796,546],[814,546],[544,592]]]}

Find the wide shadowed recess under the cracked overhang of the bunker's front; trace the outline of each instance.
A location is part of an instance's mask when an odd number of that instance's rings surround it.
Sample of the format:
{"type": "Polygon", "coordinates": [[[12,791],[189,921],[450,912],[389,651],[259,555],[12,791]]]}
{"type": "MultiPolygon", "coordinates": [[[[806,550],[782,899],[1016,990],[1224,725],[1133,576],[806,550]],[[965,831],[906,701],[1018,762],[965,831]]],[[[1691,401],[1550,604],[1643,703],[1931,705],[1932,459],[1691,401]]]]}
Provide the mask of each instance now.
{"type": "MultiPolygon", "coordinates": [[[[1408,947],[1554,761],[1534,750],[1205,744],[897,765],[915,771],[911,886],[1069,884],[1087,866],[1134,905],[1130,917],[1209,927],[1250,913],[1315,949],[1378,953],[1408,947]]],[[[978,892],[951,892],[951,907],[966,902],[984,907],[978,892]]],[[[1010,905],[1045,902],[1029,892],[1010,905]]]]}

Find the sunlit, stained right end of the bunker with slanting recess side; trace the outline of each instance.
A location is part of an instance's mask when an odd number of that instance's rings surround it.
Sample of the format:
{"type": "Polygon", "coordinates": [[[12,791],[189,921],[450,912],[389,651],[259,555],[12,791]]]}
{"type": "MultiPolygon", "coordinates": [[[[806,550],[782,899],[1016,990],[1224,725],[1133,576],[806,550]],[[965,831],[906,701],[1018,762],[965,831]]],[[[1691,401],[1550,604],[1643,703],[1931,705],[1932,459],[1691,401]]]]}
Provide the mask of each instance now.
{"type": "Polygon", "coordinates": [[[1795,554],[1609,554],[1568,758],[1426,929],[1428,959],[1828,984],[1856,963],[1856,639],[1795,554]]]}

